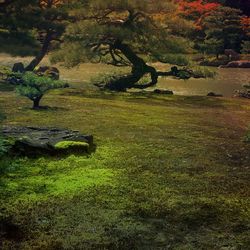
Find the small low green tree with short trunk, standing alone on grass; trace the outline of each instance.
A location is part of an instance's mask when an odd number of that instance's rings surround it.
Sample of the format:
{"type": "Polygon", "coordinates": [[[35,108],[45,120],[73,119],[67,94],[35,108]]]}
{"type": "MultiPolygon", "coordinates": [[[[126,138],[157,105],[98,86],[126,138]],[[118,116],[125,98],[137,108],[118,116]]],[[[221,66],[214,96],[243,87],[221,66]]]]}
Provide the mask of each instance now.
{"type": "Polygon", "coordinates": [[[33,72],[26,72],[21,76],[21,84],[16,87],[16,91],[33,102],[33,109],[39,109],[40,101],[45,93],[51,89],[65,88],[67,86],[62,81],[55,81],[49,77],[37,76],[33,72]]]}

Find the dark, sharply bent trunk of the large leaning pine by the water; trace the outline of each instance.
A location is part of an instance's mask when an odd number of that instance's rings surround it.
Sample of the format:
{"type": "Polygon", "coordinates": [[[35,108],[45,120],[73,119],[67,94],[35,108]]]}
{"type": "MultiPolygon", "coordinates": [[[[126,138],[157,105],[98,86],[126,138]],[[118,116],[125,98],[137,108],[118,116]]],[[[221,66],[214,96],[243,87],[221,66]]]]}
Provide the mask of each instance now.
{"type": "Polygon", "coordinates": [[[103,86],[104,88],[114,91],[125,91],[128,88],[144,89],[157,83],[158,74],[155,68],[147,65],[127,44],[117,40],[112,49],[119,50],[129,60],[132,64],[132,70],[130,74],[106,84],[103,86]],[[151,82],[147,84],[137,84],[145,74],[150,74],[151,82]]]}

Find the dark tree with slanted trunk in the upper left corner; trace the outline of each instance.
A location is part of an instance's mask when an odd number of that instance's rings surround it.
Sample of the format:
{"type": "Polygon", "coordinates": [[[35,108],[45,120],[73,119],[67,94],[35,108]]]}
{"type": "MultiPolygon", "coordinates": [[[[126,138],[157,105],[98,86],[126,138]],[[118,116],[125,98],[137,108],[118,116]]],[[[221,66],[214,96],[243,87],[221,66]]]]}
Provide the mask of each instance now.
{"type": "Polygon", "coordinates": [[[5,41],[18,44],[20,50],[30,44],[29,48],[35,54],[35,58],[26,67],[27,71],[34,70],[48,51],[61,42],[65,27],[71,20],[70,2],[5,0],[0,3],[0,36],[5,41]],[[20,40],[23,42],[20,43],[20,40]],[[32,50],[32,47],[37,49],[32,50]]]}

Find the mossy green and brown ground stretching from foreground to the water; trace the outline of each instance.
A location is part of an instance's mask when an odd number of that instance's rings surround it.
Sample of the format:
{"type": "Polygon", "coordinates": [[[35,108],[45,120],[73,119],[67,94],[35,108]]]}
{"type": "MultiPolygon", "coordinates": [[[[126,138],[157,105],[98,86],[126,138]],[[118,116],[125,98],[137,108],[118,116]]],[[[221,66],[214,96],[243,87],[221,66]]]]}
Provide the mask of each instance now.
{"type": "MultiPolygon", "coordinates": [[[[73,75],[72,75],[73,77],[73,75]]],[[[0,83],[4,124],[93,134],[91,156],[2,159],[2,249],[249,249],[249,101],[0,83]]]]}

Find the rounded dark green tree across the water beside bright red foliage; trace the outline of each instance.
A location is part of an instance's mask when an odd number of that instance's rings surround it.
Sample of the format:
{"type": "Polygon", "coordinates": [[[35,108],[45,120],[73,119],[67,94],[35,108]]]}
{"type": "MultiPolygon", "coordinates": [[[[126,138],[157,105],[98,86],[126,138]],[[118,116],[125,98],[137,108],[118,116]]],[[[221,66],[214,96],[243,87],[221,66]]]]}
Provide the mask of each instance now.
{"type": "Polygon", "coordinates": [[[225,49],[240,50],[243,37],[241,29],[241,12],[229,7],[218,7],[201,21],[205,34],[201,47],[207,53],[224,53],[225,49]]]}

